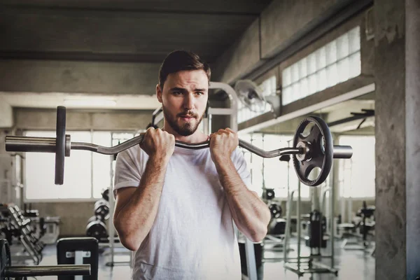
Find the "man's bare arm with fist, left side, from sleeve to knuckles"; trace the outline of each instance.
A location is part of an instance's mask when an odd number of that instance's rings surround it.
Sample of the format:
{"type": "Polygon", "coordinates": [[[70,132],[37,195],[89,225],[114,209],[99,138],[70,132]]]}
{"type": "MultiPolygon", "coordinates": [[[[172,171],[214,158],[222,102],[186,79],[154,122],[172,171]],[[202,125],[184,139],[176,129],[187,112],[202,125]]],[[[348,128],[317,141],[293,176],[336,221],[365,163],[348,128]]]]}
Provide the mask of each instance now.
{"type": "MultiPolygon", "coordinates": [[[[174,147],[174,135],[149,128],[141,143],[141,148],[149,158],[139,186],[117,190],[114,226],[121,244],[132,251],[140,247],[155,221],[167,165],[174,147]]],[[[129,168],[133,167],[127,165],[129,168]]]]}

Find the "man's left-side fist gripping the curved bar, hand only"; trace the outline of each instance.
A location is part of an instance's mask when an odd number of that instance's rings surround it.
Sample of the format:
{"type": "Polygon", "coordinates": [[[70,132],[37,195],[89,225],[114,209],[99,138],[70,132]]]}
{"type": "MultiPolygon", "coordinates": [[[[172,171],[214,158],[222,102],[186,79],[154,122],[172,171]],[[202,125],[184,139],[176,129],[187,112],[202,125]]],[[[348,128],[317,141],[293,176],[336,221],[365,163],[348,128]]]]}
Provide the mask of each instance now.
{"type": "Polygon", "coordinates": [[[169,161],[174,153],[175,137],[160,128],[155,130],[153,127],[149,127],[144,134],[140,148],[148,154],[149,158],[169,161]]]}

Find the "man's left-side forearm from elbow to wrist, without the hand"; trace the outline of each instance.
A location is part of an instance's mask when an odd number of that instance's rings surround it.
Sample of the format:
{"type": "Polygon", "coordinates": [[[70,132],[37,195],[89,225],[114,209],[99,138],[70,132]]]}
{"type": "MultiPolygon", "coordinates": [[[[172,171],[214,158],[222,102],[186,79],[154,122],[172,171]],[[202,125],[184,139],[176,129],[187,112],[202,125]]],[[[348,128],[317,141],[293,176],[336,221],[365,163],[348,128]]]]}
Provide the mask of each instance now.
{"type": "Polygon", "coordinates": [[[139,187],[115,218],[118,234],[140,246],[151,230],[162,194],[167,162],[149,158],[139,187]]]}

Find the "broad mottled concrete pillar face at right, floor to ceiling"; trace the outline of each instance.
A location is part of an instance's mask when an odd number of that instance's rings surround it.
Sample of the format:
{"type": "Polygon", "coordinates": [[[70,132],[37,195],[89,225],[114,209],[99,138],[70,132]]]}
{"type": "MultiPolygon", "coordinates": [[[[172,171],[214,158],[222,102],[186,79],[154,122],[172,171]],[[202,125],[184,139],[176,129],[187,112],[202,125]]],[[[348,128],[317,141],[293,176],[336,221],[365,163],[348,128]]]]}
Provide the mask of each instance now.
{"type": "Polygon", "coordinates": [[[405,257],[405,3],[374,2],[375,278],[402,280],[405,257]]]}

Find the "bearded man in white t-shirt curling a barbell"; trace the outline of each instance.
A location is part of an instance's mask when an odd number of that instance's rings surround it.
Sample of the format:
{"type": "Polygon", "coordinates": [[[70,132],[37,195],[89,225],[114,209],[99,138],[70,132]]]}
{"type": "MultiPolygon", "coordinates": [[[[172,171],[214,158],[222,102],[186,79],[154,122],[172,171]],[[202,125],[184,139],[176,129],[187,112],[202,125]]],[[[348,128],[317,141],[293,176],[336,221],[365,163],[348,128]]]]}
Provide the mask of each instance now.
{"type": "Polygon", "coordinates": [[[227,128],[197,130],[209,98],[209,66],[192,52],[171,52],[160,67],[156,96],[163,129],[116,160],[114,225],[135,251],[133,279],[240,279],[233,221],[252,241],[267,233],[269,210],[248,190],[250,174],[227,128]],[[210,147],[191,150],[175,141],[210,147]]]}

